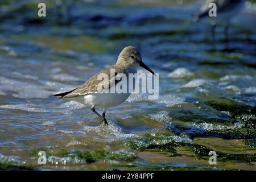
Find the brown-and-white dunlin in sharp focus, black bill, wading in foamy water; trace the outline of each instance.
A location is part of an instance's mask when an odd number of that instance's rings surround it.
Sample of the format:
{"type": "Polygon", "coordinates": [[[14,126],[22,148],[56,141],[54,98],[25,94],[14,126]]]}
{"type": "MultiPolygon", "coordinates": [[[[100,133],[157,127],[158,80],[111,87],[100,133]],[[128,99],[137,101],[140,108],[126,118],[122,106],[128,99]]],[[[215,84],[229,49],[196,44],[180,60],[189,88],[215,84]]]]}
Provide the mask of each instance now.
{"type": "Polygon", "coordinates": [[[112,86],[115,86],[118,80],[115,77],[119,73],[123,73],[127,77],[127,82],[129,82],[129,73],[137,73],[137,68],[142,67],[147,71],[151,72],[153,75],[155,73],[147,67],[146,64],[142,62],[141,53],[137,48],[128,46],[125,47],[122,52],[118,56],[117,62],[109,68],[102,70],[96,75],[89,78],[83,85],[78,88],[71,90],[69,92],[55,94],[59,98],[65,98],[72,101],[77,101],[85,105],[89,105],[92,107],[93,113],[97,114],[106,125],[108,122],[106,121],[105,114],[106,110],[109,107],[117,106],[124,102],[131,93],[101,93],[98,90],[98,85],[102,84],[102,80],[98,79],[100,74],[108,75],[109,79],[106,80],[103,85],[107,85],[108,89],[111,90],[112,86]],[[110,75],[111,70],[114,70],[114,75],[110,75]],[[104,111],[99,114],[95,107],[102,107],[104,111]]]}

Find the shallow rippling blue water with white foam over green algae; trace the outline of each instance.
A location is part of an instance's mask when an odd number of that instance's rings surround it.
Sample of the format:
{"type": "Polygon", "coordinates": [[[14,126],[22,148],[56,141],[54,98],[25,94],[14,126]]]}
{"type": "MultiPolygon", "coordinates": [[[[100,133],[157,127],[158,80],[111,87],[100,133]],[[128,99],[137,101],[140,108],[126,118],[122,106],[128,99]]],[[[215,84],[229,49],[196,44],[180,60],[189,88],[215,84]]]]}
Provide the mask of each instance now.
{"type": "Polygon", "coordinates": [[[48,2],[44,19],[36,3],[1,2],[0,169],[256,169],[255,4],[236,16],[229,43],[221,27],[213,43],[209,24],[191,19],[200,2],[74,2],[71,16],[48,2]],[[158,100],[132,94],[105,127],[89,107],[52,96],[129,45],[159,73],[158,100]]]}

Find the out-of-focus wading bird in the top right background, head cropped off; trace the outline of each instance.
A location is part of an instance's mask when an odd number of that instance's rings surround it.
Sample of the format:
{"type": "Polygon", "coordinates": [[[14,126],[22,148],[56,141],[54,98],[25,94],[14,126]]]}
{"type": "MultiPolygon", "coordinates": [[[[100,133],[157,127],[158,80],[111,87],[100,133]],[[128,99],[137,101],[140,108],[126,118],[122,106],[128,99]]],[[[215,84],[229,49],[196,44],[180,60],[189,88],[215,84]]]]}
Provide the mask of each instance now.
{"type": "Polygon", "coordinates": [[[243,5],[245,5],[246,0],[207,0],[205,4],[201,7],[201,13],[196,15],[197,20],[203,18],[212,19],[212,34],[213,38],[215,35],[216,24],[220,24],[225,27],[225,40],[228,40],[228,30],[231,20],[234,16],[239,13],[243,5]],[[215,3],[217,7],[217,17],[209,17],[208,13],[210,10],[209,4],[215,3]]]}

